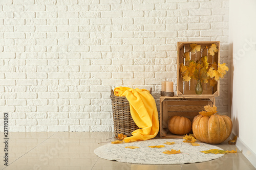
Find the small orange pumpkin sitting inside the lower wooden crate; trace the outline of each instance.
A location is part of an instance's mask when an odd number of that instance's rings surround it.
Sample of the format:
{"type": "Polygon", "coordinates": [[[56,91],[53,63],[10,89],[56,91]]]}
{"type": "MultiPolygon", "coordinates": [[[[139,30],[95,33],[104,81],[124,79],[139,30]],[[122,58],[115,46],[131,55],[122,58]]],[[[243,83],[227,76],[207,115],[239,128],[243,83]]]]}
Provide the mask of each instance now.
{"type": "Polygon", "coordinates": [[[191,131],[191,122],[183,116],[173,116],[168,121],[168,129],[176,135],[185,135],[191,131]]]}

